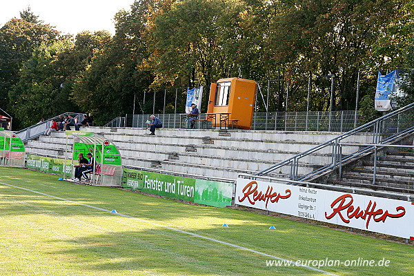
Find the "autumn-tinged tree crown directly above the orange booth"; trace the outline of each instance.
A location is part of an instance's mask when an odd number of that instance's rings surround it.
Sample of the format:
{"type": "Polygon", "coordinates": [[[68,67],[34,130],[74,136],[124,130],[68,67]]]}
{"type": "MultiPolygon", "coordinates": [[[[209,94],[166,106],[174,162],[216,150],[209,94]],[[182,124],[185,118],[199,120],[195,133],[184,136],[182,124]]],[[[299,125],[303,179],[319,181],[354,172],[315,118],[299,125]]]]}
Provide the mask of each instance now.
{"type": "Polygon", "coordinates": [[[147,28],[152,55],[146,64],[163,83],[208,85],[238,72],[243,1],[184,0],[157,10],[147,28]]]}

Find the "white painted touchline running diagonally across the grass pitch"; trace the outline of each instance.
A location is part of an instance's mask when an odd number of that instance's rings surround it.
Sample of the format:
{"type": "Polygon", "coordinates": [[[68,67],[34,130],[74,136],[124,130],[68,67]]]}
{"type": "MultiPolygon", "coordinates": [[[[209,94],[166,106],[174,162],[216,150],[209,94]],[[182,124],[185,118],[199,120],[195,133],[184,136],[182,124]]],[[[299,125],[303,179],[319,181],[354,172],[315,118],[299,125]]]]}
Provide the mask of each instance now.
{"type": "MultiPolygon", "coordinates": [[[[52,197],[52,198],[54,198],[54,199],[59,199],[59,200],[63,200],[63,201],[68,201],[68,202],[70,202],[70,203],[74,203],[74,204],[78,204],[78,205],[81,205],[81,206],[85,206],[85,207],[93,208],[93,209],[96,209],[96,210],[101,210],[101,211],[103,211],[103,212],[107,212],[107,213],[110,213],[110,212],[111,212],[110,210],[106,210],[106,209],[99,208],[99,207],[92,206],[92,205],[88,205],[88,204],[83,204],[83,203],[80,203],[80,202],[77,202],[77,201],[72,201],[72,200],[70,200],[70,199],[64,199],[64,198],[62,198],[62,197],[55,197],[54,195],[48,195],[48,194],[45,194],[45,193],[40,193],[40,192],[37,192],[37,191],[35,191],[35,190],[30,190],[30,189],[27,189],[27,188],[22,188],[22,187],[19,187],[19,186],[14,186],[14,185],[11,185],[11,184],[6,184],[6,183],[2,183],[2,182],[0,182],[0,184],[6,185],[6,186],[10,186],[10,187],[13,187],[13,188],[19,188],[19,189],[21,189],[21,190],[27,190],[27,191],[29,191],[29,192],[31,192],[31,193],[36,193],[36,194],[39,194],[39,195],[44,195],[44,196],[46,196],[46,197],[52,197]]],[[[228,242],[222,242],[222,241],[220,241],[219,239],[213,239],[213,238],[211,238],[211,237],[201,236],[201,235],[198,235],[198,234],[195,234],[195,233],[190,233],[190,232],[187,232],[187,231],[184,231],[184,230],[179,230],[179,229],[177,229],[177,228],[172,228],[172,227],[170,227],[170,226],[165,226],[165,225],[162,225],[162,224],[157,224],[157,223],[152,222],[152,221],[147,221],[147,220],[145,220],[145,219],[139,219],[138,217],[132,217],[132,216],[130,216],[130,215],[124,215],[124,214],[121,214],[121,213],[114,213],[114,214],[115,214],[115,215],[119,215],[119,216],[121,216],[121,217],[128,217],[129,219],[137,219],[137,220],[139,220],[139,221],[141,221],[141,222],[145,222],[146,224],[152,224],[153,226],[158,226],[158,227],[161,227],[161,228],[166,228],[166,229],[169,229],[169,230],[172,230],[172,231],[175,231],[175,232],[183,233],[183,234],[186,234],[186,235],[191,235],[191,236],[193,236],[193,237],[199,237],[199,238],[201,238],[201,239],[207,239],[207,240],[209,240],[209,241],[211,241],[211,242],[217,242],[217,243],[219,243],[219,244],[225,244],[226,246],[231,246],[231,247],[234,247],[234,248],[238,248],[238,249],[246,250],[246,251],[248,251],[248,252],[251,252],[251,253],[256,253],[256,254],[258,254],[258,255],[262,255],[262,256],[270,257],[270,258],[273,258],[273,259],[279,259],[279,260],[281,260],[282,262],[289,262],[289,263],[290,263],[290,266],[301,266],[301,267],[303,267],[303,268],[307,268],[307,269],[310,269],[310,270],[314,270],[314,271],[317,271],[317,272],[322,273],[322,274],[325,274],[325,275],[333,275],[333,276],[337,276],[336,274],[328,273],[328,272],[327,272],[327,271],[325,271],[325,270],[321,270],[321,269],[318,269],[318,268],[314,268],[314,267],[312,267],[312,266],[305,266],[304,264],[296,264],[295,262],[290,261],[290,260],[288,260],[288,259],[283,259],[283,258],[281,258],[281,257],[276,257],[276,256],[273,256],[273,255],[269,255],[269,254],[266,254],[266,253],[262,253],[262,252],[260,252],[260,251],[253,250],[253,249],[250,249],[250,248],[246,248],[246,247],[243,247],[243,246],[237,246],[236,244],[230,244],[230,243],[228,243],[228,242]]]]}

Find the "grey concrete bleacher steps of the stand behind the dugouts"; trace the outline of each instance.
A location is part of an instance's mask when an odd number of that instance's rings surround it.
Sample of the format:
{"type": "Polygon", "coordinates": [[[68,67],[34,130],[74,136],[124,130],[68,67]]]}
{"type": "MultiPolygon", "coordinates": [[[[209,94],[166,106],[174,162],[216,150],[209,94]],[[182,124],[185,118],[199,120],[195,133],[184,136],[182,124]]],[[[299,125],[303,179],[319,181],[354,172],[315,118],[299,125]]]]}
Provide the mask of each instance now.
{"type": "MultiPolygon", "coordinates": [[[[255,173],[336,137],[338,132],[291,132],[266,130],[157,130],[100,128],[93,131],[110,139],[126,166],[159,168],[184,174],[235,179],[239,173],[255,173]]],[[[28,141],[27,152],[64,154],[66,135],[52,132],[28,141]]],[[[68,148],[68,157],[72,147],[68,148]]]]}

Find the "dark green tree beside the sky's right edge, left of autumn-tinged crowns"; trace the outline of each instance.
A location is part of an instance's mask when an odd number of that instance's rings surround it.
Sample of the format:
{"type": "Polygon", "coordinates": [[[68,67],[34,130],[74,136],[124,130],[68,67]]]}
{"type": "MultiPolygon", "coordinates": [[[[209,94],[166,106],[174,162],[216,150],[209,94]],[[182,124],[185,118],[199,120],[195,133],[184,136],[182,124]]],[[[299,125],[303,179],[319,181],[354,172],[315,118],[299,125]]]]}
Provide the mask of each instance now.
{"type": "Polygon", "coordinates": [[[135,1],[130,12],[117,13],[115,36],[94,52],[90,66],[75,80],[72,97],[97,124],[132,112],[134,95],[144,95],[152,82],[152,75],[141,68],[149,55],[142,31],[151,3],[135,1]]]}

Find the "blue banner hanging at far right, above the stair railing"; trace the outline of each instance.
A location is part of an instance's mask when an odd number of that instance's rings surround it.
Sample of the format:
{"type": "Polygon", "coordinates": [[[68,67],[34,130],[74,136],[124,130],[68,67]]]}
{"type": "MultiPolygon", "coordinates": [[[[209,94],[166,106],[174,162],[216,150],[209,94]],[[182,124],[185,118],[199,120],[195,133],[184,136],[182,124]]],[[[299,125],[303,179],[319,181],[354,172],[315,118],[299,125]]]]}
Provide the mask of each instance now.
{"type": "Polygon", "coordinates": [[[397,71],[395,70],[387,75],[381,75],[381,72],[378,72],[377,90],[375,92],[375,110],[391,110],[391,99],[389,99],[389,95],[395,92],[396,77],[397,71]]]}

